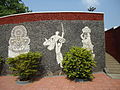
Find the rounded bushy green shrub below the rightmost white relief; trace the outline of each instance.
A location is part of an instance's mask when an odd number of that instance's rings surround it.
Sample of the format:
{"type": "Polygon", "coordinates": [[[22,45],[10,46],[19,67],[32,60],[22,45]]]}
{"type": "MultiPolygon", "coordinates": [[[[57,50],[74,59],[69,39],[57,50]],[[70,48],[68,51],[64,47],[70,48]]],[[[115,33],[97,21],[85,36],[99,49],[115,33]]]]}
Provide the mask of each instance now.
{"type": "Polygon", "coordinates": [[[96,66],[92,52],[80,47],[72,47],[64,55],[63,71],[71,80],[76,78],[92,80],[92,68],[96,66]]]}

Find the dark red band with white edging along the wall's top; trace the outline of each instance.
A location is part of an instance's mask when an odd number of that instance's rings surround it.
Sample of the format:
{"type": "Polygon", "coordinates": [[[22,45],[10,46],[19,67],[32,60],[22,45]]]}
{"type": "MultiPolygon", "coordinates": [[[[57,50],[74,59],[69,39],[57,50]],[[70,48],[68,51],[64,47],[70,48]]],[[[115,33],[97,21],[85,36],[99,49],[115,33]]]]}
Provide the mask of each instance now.
{"type": "Polygon", "coordinates": [[[29,12],[21,14],[13,14],[0,17],[0,25],[18,24],[24,22],[45,21],[45,20],[97,20],[103,21],[104,14],[96,12],[80,12],[80,11],[55,11],[55,12],[29,12]]]}

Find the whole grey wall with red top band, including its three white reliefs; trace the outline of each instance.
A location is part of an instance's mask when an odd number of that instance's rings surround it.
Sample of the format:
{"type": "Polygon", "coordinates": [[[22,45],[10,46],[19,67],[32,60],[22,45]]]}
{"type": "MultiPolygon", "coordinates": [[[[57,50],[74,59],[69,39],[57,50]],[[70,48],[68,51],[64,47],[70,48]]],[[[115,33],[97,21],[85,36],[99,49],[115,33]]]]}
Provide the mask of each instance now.
{"type": "Polygon", "coordinates": [[[101,18],[103,14],[85,13],[85,17],[83,13],[54,13],[53,18],[53,13],[46,13],[44,16],[37,16],[42,14],[44,13],[3,17],[4,22],[2,22],[3,18],[0,18],[2,37],[0,54],[4,57],[15,57],[29,51],[42,52],[44,56],[41,63],[44,73],[58,75],[61,72],[64,53],[72,46],[79,46],[92,50],[97,62],[94,71],[103,70],[105,60],[104,24],[101,18]],[[81,17],[76,18],[78,14],[81,17]],[[25,19],[26,15],[28,17],[25,19]],[[74,17],[70,18],[71,15],[74,17]],[[36,16],[38,19],[36,17],[30,19],[31,16],[36,16]]]}

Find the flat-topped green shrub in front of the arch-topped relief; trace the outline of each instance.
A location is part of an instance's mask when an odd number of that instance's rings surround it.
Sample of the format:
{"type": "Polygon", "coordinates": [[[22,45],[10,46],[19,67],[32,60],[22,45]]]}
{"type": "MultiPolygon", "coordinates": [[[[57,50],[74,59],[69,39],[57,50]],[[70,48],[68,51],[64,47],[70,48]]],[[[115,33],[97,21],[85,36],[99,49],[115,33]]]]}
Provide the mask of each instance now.
{"type": "Polygon", "coordinates": [[[37,73],[41,58],[41,53],[29,52],[14,58],[7,58],[7,64],[13,75],[19,76],[20,81],[26,81],[37,73]]]}

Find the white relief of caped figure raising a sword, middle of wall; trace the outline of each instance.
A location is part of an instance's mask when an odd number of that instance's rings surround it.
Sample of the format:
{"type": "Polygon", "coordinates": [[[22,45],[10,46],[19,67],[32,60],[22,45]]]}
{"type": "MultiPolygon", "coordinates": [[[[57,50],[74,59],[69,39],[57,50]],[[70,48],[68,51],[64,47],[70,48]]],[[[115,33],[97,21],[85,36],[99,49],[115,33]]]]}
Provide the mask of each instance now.
{"type": "Polygon", "coordinates": [[[51,36],[49,39],[45,38],[45,42],[43,43],[44,46],[48,46],[48,50],[53,50],[55,48],[55,53],[56,53],[56,60],[57,63],[60,64],[60,67],[62,68],[62,60],[63,60],[63,55],[61,53],[61,47],[62,44],[65,43],[64,37],[64,28],[63,24],[61,23],[62,27],[62,36],[59,35],[59,31],[55,32],[55,35],[51,36]]]}

